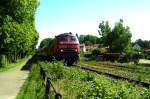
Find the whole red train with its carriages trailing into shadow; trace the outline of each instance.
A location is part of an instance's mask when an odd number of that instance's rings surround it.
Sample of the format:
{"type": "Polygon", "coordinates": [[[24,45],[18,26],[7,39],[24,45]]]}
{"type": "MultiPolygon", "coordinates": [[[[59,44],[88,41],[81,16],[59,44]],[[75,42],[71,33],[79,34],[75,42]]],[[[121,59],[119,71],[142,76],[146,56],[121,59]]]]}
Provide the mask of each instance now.
{"type": "Polygon", "coordinates": [[[62,33],[55,36],[52,44],[40,51],[48,59],[64,60],[67,65],[73,65],[78,62],[79,52],[78,36],[72,33],[62,33]]]}

